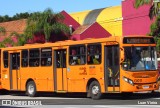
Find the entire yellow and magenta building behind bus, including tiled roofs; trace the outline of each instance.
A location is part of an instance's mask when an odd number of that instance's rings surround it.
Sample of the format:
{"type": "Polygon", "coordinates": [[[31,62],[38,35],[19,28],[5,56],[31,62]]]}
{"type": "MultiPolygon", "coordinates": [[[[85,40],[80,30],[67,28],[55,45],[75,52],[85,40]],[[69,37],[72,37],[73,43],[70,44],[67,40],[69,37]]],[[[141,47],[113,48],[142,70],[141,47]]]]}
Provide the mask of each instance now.
{"type": "MultiPolygon", "coordinates": [[[[70,27],[70,39],[81,40],[86,38],[101,38],[109,36],[146,35],[150,32],[150,25],[154,20],[149,18],[150,5],[134,8],[135,0],[122,0],[120,6],[101,9],[86,10],[68,14],[62,11],[65,17],[63,23],[70,27]]],[[[23,33],[26,20],[0,23],[6,28],[5,36],[0,36],[2,41],[11,32],[23,33]]],[[[51,36],[51,41],[65,40],[66,38],[51,36]]],[[[29,43],[45,42],[44,35],[37,34],[29,43]]]]}

